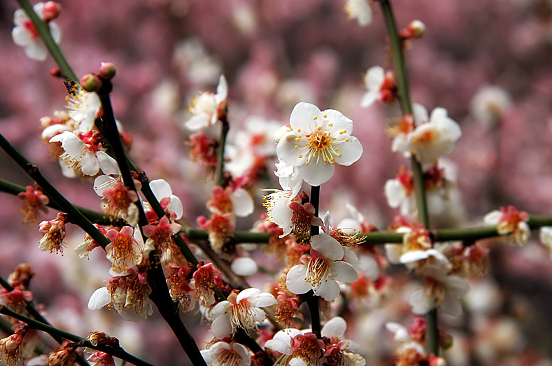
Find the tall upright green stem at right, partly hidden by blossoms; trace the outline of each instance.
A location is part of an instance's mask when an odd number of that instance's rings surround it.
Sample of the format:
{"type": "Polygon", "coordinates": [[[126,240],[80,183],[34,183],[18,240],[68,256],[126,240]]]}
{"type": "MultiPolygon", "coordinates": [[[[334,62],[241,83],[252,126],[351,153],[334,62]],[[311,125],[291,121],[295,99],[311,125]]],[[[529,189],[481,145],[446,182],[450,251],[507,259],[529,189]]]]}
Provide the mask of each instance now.
{"type": "MultiPolygon", "coordinates": [[[[397,23],[393,15],[393,7],[390,0],[380,0],[382,11],[384,13],[385,23],[389,39],[391,40],[391,52],[393,56],[393,64],[395,75],[397,77],[397,96],[404,115],[412,115],[413,108],[408,90],[408,76],[404,62],[403,40],[399,36],[397,23]]],[[[411,157],[412,171],[414,175],[414,187],[416,193],[416,203],[418,209],[418,218],[424,224],[424,228],[429,229],[429,215],[426,202],[426,191],[422,166],[417,161],[415,155],[411,157]]],[[[437,344],[437,309],[431,309],[427,315],[427,338],[428,351],[431,354],[439,354],[439,346],[437,344]]]]}

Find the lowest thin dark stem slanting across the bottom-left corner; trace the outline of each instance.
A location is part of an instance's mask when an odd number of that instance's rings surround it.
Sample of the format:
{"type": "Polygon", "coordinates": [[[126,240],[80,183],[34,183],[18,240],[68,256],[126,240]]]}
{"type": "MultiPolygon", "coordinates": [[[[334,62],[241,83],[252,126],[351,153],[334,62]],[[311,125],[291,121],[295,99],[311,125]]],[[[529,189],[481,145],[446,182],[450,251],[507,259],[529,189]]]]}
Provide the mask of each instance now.
{"type": "Polygon", "coordinates": [[[75,334],[69,333],[67,331],[63,331],[61,329],[52,327],[50,325],[46,325],[43,322],[39,322],[37,320],[23,316],[19,313],[16,313],[15,311],[8,309],[4,305],[0,305],[0,314],[3,314],[5,316],[11,316],[12,318],[21,320],[22,322],[26,323],[31,329],[45,331],[46,333],[52,336],[64,338],[64,339],[70,340],[71,342],[79,343],[79,347],[88,347],[92,349],[97,349],[98,351],[106,352],[106,354],[110,354],[112,356],[120,358],[121,360],[126,360],[129,363],[132,363],[136,366],[152,366],[152,364],[147,363],[146,361],[141,360],[135,356],[132,356],[131,354],[128,354],[126,351],[124,351],[124,349],[120,347],[114,348],[114,347],[108,347],[106,345],[92,345],[92,343],[90,343],[90,340],[86,338],[79,337],[75,334]]]}

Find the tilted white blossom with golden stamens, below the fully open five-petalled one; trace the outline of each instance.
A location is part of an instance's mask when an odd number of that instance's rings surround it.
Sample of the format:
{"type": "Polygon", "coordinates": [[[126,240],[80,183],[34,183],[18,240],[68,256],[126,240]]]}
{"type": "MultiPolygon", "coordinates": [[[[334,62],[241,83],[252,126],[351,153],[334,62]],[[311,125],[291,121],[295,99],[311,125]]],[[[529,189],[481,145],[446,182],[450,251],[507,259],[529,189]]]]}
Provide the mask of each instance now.
{"type": "Polygon", "coordinates": [[[303,264],[297,264],[288,271],[286,286],[297,295],[313,290],[315,295],[326,301],[339,297],[337,281],[355,282],[358,273],[355,268],[344,262],[344,247],[330,235],[318,234],[311,238],[310,258],[302,258],[303,264]]]}

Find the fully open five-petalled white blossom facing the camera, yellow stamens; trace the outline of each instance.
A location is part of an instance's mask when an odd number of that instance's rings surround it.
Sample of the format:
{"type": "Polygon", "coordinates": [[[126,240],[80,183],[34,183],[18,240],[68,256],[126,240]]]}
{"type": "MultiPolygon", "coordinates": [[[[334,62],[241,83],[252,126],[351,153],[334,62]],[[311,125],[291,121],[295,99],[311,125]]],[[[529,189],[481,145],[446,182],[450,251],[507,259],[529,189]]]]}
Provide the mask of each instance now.
{"type": "Polygon", "coordinates": [[[278,159],[297,166],[299,176],[311,186],[327,182],[334,164],[351,165],[362,155],[353,132],[353,121],[341,112],[321,112],[310,103],[298,103],[290,116],[290,131],[278,141],[278,159]]]}

